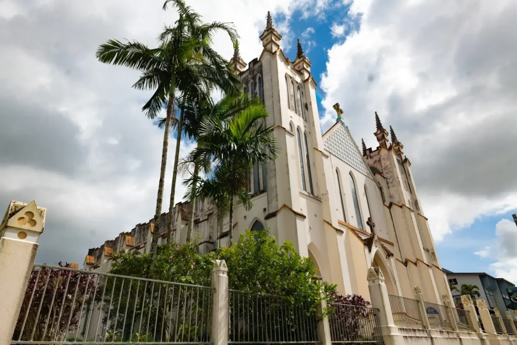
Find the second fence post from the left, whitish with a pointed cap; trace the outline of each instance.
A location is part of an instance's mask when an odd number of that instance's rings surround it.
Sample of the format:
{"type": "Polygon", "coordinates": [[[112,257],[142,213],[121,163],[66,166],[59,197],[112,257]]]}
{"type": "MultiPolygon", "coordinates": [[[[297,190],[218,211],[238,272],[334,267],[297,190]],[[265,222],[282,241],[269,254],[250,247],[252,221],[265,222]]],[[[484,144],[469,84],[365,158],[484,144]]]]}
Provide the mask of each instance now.
{"type": "Polygon", "coordinates": [[[212,268],[212,301],[211,339],[214,345],[228,344],[228,267],[224,260],[216,260],[212,268]]]}

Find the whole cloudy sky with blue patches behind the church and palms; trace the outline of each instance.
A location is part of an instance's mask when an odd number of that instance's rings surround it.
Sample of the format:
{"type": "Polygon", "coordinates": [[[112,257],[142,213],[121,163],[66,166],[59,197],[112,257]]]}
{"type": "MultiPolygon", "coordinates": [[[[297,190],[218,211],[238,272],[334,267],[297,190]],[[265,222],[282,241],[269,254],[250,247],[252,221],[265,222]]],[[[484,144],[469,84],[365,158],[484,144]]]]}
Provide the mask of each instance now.
{"type": "MultiPolygon", "coordinates": [[[[150,93],[131,88],[138,72],[103,65],[95,51],[112,38],[156,44],[176,19],[162,2],[0,0],[0,205],[48,209],[38,262],[82,264],[88,248],[154,214],[163,136],[140,110],[150,93]]],[[[393,126],[442,266],[517,284],[517,2],[188,4],[206,22],[234,23],[247,62],[262,52],[271,11],[284,53],[294,60],[299,38],[312,62],[323,132],[336,102],[356,142],[377,146],[375,111],[393,126]]],[[[214,46],[233,55],[222,34],[214,46]]]]}

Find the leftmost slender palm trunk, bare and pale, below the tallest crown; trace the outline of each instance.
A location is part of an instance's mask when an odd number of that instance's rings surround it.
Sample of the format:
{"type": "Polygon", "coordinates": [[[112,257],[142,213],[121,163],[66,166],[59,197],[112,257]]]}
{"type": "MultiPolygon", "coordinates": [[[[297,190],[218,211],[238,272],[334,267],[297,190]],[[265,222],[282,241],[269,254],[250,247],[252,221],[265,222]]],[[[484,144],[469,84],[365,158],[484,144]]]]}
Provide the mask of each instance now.
{"type": "Polygon", "coordinates": [[[169,148],[169,129],[171,127],[172,107],[174,104],[174,86],[172,92],[169,93],[169,102],[167,103],[167,116],[165,118],[165,131],[163,133],[162,161],[160,167],[160,181],[158,182],[158,197],[156,198],[156,210],[154,217],[153,241],[151,242],[150,256],[153,258],[147,266],[147,274],[153,268],[156,260],[156,247],[158,246],[158,236],[160,231],[160,216],[163,201],[163,185],[165,181],[165,166],[167,164],[167,150],[169,148]]]}

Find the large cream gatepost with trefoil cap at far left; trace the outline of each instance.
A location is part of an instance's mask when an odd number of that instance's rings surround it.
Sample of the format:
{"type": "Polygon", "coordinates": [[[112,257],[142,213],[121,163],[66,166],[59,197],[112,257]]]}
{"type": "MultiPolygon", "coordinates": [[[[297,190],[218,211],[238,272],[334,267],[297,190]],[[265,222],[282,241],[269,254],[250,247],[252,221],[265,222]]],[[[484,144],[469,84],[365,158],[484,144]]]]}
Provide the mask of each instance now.
{"type": "Polygon", "coordinates": [[[12,340],[46,213],[34,200],[11,201],[0,224],[0,345],[12,340]]]}

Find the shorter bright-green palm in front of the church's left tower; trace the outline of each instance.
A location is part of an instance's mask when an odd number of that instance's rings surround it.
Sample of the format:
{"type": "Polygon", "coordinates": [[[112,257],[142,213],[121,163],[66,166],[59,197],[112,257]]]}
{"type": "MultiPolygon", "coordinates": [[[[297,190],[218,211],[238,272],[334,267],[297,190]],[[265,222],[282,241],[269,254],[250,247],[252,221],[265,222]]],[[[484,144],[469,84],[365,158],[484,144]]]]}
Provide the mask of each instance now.
{"type": "MultiPolygon", "coordinates": [[[[247,95],[225,97],[214,107],[211,116],[204,117],[200,124],[200,140],[203,146],[197,147],[190,155],[191,161],[211,160],[216,166],[214,180],[224,186],[224,194],[230,200],[229,245],[233,240],[233,206],[234,199],[241,201],[245,209],[252,204],[249,200],[247,186],[252,166],[265,164],[275,159],[279,149],[272,134],[272,128],[266,127],[268,116],[264,105],[257,100],[249,100],[247,95]]],[[[196,177],[197,178],[197,177],[196,177]]],[[[202,191],[209,183],[201,183],[195,192],[191,177],[188,196],[205,195],[202,191]]]]}

